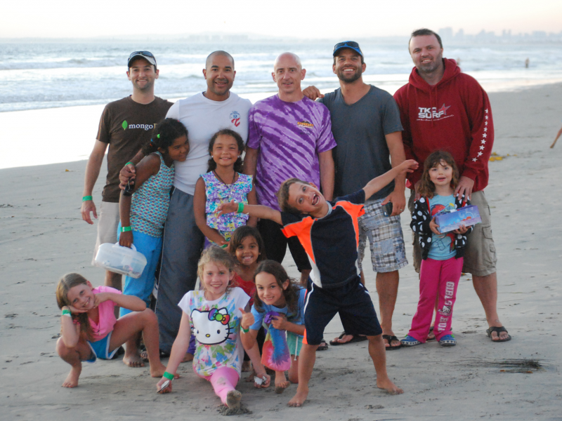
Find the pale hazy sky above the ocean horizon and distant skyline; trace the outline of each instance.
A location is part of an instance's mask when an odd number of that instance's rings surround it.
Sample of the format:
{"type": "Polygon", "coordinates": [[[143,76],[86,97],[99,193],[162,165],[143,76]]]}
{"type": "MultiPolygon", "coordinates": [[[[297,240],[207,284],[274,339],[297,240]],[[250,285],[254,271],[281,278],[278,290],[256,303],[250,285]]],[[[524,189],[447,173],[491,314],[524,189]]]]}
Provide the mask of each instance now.
{"type": "Polygon", "coordinates": [[[252,33],[341,38],[404,36],[419,27],[476,34],[562,31],[562,1],[27,0],[4,1],[0,38],[252,33]]]}

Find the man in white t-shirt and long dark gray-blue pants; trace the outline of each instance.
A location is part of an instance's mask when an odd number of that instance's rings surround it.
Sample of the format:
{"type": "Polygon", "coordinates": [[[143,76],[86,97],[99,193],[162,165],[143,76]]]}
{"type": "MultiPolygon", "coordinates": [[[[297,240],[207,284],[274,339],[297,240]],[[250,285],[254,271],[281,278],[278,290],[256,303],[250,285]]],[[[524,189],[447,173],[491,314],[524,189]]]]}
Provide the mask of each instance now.
{"type": "MultiPolygon", "coordinates": [[[[178,119],[188,129],[188,159],[175,162],[176,176],[171,193],[168,218],[164,226],[162,265],[158,278],[156,313],[160,330],[160,349],[169,354],[181,320],[178,302],[195,289],[197,262],[204,236],[195,224],[193,194],[195,182],[207,173],[209,140],[217,131],[230,128],[248,138],[248,111],[251,102],[230,92],[236,72],[233,57],[215,51],[207,57],[203,76],[207,91],[179,100],[166,117],[178,119]]],[[[126,171],[122,171],[122,181],[126,171]]],[[[123,184],[123,183],[122,183],[123,184]]],[[[192,347],[188,354],[193,353],[192,347]]]]}

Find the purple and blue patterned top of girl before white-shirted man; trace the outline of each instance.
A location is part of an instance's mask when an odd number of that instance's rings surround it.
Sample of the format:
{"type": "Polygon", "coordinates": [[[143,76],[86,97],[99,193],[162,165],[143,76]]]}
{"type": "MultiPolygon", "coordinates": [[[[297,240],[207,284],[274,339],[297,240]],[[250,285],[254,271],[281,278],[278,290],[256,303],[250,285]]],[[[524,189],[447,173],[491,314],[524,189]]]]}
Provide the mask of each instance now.
{"type": "Polygon", "coordinates": [[[246,225],[249,218],[247,213],[226,213],[218,216],[217,208],[221,203],[228,203],[231,200],[237,203],[248,203],[247,195],[251,192],[251,176],[238,174],[238,180],[231,185],[226,185],[216,178],[213,171],[202,174],[205,182],[205,213],[207,213],[207,225],[216,229],[226,239],[230,240],[237,227],[246,225]]]}

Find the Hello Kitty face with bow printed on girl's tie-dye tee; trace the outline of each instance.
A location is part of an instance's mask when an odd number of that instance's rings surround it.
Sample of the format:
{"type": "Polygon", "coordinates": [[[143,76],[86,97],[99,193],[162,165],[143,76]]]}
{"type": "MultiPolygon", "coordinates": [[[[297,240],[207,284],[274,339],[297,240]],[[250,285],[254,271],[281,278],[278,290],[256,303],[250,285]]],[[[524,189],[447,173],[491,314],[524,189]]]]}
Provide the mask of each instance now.
{"type": "Polygon", "coordinates": [[[230,315],[226,308],[210,309],[200,312],[194,309],[191,312],[193,327],[191,329],[195,339],[202,345],[218,345],[226,342],[230,335],[230,315]]]}

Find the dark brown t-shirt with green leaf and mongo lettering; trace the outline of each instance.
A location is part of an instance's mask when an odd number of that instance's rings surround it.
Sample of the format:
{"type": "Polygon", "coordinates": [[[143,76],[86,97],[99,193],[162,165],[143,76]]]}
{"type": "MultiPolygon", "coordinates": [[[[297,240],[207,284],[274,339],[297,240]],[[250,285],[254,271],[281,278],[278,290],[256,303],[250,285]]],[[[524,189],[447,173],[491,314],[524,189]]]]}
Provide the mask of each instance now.
{"type": "Polygon", "coordinates": [[[96,137],[109,144],[103,201],[119,202],[119,171],[150,140],[152,130],[164,119],[171,105],[158,97],[150,104],[139,104],[128,96],[105,106],[96,137]]]}

